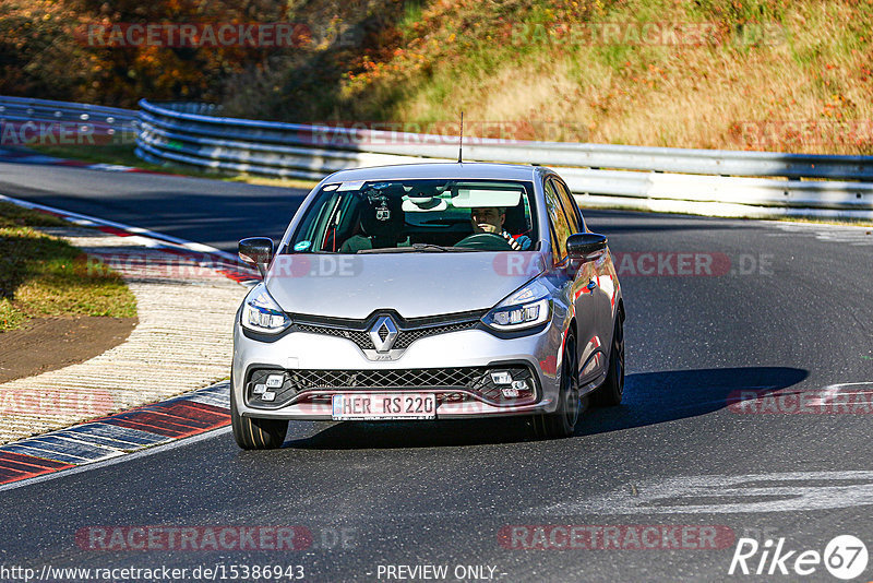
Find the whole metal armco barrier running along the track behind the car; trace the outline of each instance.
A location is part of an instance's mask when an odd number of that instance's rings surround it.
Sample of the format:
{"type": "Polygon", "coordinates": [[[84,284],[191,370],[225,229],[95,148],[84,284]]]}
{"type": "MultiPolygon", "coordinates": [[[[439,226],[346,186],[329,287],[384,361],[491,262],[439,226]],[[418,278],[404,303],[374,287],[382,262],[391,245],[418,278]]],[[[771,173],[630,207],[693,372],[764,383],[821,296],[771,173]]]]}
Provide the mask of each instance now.
{"type": "MultiPolygon", "coordinates": [[[[0,97],[0,119],[87,116],[133,128],[136,155],[152,163],[285,178],[318,180],[344,168],[457,157],[456,136],[226,118],[208,104],[142,99],[140,107],[136,112],[0,97]]],[[[873,218],[873,156],[467,138],[464,159],[553,166],[590,206],[873,218]]]]}

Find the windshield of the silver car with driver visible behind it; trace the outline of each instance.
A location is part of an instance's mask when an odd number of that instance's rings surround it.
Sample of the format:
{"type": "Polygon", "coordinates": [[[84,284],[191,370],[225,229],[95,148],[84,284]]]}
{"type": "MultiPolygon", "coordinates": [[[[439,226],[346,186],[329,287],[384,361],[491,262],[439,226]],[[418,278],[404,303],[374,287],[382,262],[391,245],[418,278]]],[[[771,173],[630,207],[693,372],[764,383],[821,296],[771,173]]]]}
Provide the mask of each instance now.
{"type": "Polygon", "coordinates": [[[330,183],[285,252],[526,251],[538,240],[531,182],[330,183]]]}

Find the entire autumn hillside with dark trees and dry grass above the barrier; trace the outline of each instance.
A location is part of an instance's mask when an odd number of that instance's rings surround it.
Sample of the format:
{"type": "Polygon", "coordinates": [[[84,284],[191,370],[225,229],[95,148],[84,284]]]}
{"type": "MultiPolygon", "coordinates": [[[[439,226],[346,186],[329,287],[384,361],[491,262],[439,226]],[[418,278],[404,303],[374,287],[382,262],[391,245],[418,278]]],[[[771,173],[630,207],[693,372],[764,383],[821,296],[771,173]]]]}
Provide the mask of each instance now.
{"type": "Polygon", "coordinates": [[[873,0],[0,0],[0,94],[409,131],[873,154],[873,0]],[[292,23],[292,46],[88,26],[292,23]],[[89,37],[87,37],[89,38],[89,37]]]}

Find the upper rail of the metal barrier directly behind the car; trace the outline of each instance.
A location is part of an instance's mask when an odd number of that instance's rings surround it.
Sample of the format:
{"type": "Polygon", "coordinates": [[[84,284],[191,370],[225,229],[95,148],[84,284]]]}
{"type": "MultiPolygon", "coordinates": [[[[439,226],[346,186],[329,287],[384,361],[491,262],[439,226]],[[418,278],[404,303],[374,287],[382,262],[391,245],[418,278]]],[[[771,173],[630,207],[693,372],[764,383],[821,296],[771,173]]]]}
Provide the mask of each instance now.
{"type": "MultiPolygon", "coordinates": [[[[332,150],[366,151],[378,154],[416,155],[454,159],[457,142],[452,136],[412,134],[381,130],[304,126],[237,118],[182,110],[188,104],[156,105],[140,102],[141,119],[153,128],[177,133],[183,140],[198,136],[202,145],[230,147],[220,139],[250,144],[325,146],[332,150]],[[218,139],[218,141],[210,141],[218,139]]],[[[238,147],[234,144],[232,147],[238,147]]],[[[685,150],[671,147],[525,142],[499,139],[468,139],[464,155],[485,162],[511,162],[553,166],[649,170],[718,176],[778,176],[787,178],[873,179],[873,157],[823,156],[772,152],[685,150]]]]}

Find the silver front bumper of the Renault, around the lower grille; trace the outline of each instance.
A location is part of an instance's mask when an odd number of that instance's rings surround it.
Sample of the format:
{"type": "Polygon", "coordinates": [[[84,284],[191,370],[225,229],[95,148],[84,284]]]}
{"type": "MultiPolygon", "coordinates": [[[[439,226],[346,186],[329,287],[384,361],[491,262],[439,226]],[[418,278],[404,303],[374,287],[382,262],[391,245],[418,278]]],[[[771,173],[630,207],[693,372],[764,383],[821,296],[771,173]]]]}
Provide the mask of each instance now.
{"type": "Polygon", "coordinates": [[[301,390],[288,404],[265,408],[247,400],[250,372],[270,369],[288,376],[328,373],[332,371],[410,371],[439,369],[486,369],[507,366],[526,367],[536,385],[536,395],[524,404],[494,403],[475,391],[461,388],[416,385],[415,388],[367,386],[369,392],[436,393],[436,418],[470,418],[553,413],[558,407],[562,335],[554,322],[538,333],[498,337],[486,330],[464,330],[414,342],[396,360],[374,361],[351,341],[307,332],[287,333],[271,342],[243,333],[239,319],[234,331],[234,366],[231,391],[238,413],[243,417],[270,419],[331,420],[330,396],[355,393],[359,388],[323,386],[301,390]],[[464,398],[446,398],[463,394],[464,398]],[[440,396],[441,395],[441,396],[440,396]],[[313,398],[310,398],[313,397],[313,398]]]}

